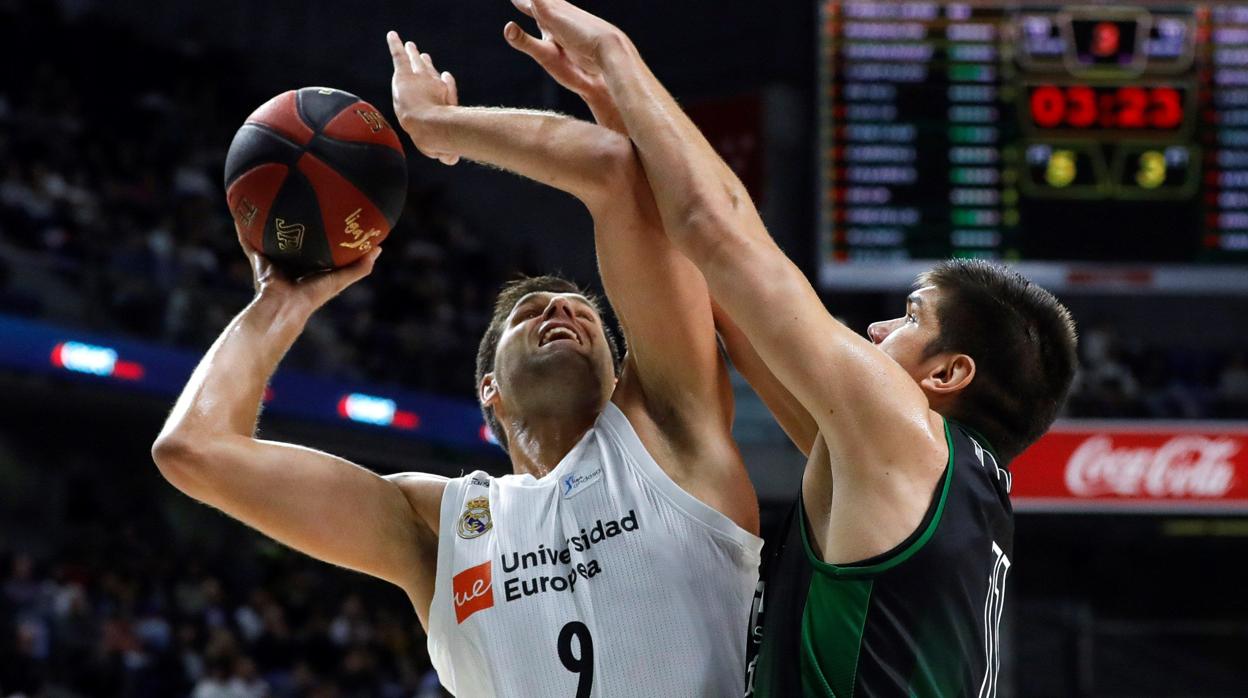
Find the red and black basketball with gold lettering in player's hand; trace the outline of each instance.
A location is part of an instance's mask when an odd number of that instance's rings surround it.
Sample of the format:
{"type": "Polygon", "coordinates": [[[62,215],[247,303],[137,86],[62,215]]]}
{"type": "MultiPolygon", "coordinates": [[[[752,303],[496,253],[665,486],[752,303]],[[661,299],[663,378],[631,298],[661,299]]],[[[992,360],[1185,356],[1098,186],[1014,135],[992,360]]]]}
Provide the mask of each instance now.
{"type": "Polygon", "coordinates": [[[407,161],[386,117],[351,92],[290,90],[247,117],[226,156],[243,241],[292,277],[348,265],[403,211],[407,161]]]}

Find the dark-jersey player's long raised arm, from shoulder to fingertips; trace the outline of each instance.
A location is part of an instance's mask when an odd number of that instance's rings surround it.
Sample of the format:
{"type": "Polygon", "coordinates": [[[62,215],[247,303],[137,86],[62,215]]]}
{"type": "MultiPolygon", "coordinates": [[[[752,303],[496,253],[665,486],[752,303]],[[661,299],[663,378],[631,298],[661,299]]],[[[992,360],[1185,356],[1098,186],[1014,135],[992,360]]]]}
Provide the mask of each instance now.
{"type": "Polygon", "coordinates": [[[768,235],[745,186],[617,27],[564,0],[532,0],[553,39],[600,71],[654,189],[664,229],[715,301],[815,418],[834,462],[922,462],[943,452],[926,397],[899,363],[827,313],[768,235]]]}

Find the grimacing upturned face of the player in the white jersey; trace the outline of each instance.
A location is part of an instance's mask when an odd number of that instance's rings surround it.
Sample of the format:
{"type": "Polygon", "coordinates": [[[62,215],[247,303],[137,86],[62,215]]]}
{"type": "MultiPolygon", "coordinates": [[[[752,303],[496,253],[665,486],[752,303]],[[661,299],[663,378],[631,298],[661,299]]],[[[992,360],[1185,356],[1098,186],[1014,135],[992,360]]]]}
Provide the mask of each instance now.
{"type": "Polygon", "coordinates": [[[522,297],[499,338],[494,380],[514,406],[538,407],[549,400],[605,403],[615,367],[598,311],[579,293],[522,297]]]}

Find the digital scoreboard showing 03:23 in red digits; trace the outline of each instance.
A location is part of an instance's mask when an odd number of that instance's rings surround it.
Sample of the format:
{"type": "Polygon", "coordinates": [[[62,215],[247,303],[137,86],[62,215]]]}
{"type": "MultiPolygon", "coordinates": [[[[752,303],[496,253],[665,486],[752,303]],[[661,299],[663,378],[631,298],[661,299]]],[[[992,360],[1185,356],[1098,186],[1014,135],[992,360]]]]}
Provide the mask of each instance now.
{"type": "Polygon", "coordinates": [[[1248,291],[1248,2],[825,1],[820,36],[825,286],[1248,291]]]}

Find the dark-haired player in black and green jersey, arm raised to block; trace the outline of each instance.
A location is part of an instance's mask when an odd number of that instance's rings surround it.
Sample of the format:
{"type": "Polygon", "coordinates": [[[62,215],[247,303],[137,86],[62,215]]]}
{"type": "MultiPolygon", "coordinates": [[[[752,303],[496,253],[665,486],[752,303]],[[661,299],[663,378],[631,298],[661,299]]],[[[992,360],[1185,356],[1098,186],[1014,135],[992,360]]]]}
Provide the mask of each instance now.
{"type": "Polygon", "coordinates": [[[760,586],[746,691],[995,694],[1007,465],[1070,388],[1070,313],[1005,267],[951,261],[919,278],[902,317],[855,335],[619,29],[565,0],[513,2],[605,82],[734,362],[809,456],[760,586]]]}

